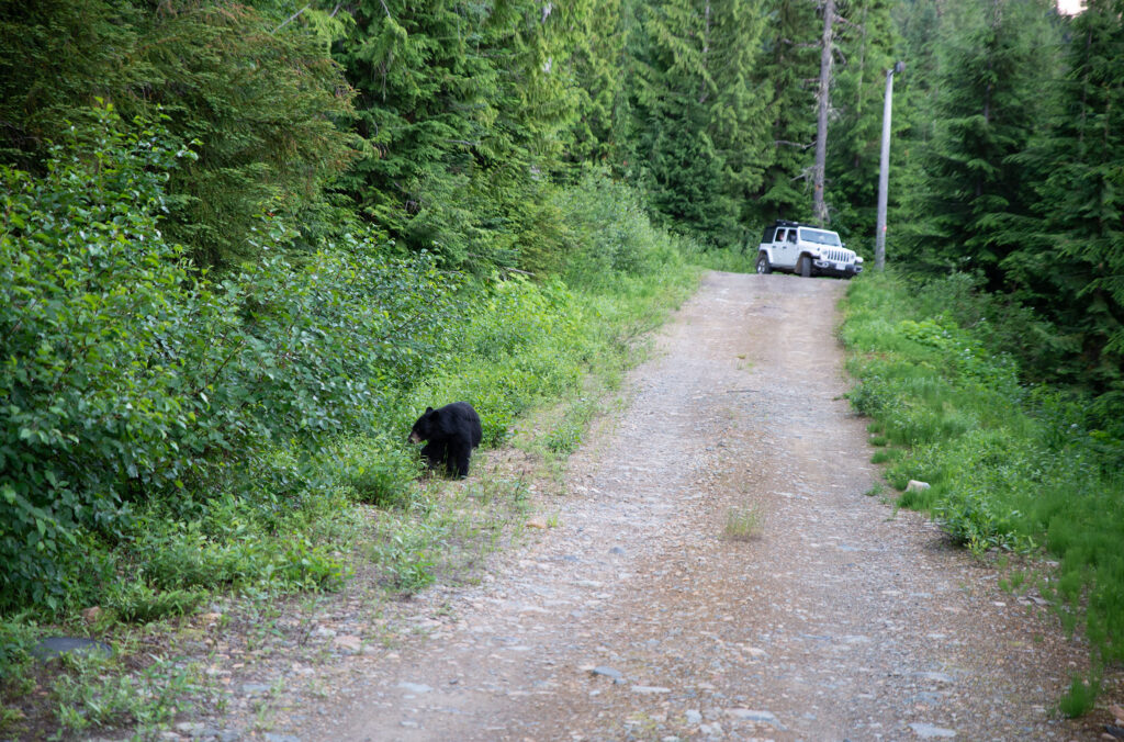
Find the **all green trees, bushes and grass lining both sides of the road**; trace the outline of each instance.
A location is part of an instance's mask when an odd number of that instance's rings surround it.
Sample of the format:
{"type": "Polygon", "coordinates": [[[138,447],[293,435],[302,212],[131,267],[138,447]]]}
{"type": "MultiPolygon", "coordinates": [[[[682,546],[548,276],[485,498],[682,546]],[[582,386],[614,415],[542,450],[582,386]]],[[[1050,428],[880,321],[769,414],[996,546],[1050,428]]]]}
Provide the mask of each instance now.
{"type": "MultiPolygon", "coordinates": [[[[1124,0],[0,0],[0,687],[90,606],[135,624],[216,591],[342,589],[355,508],[424,517],[419,410],[472,399],[488,449],[562,400],[541,445],[565,455],[596,413],[583,379],[619,378],[703,269],[752,272],[768,224],[817,217],[865,260],[850,300],[900,309],[871,337],[900,331],[892,352],[935,354],[915,370],[1025,414],[1017,443],[961,460],[1052,492],[997,505],[997,474],[913,505],[981,554],[1052,554],[1068,627],[1118,663],[1122,18],[1124,0]]],[[[919,409],[895,395],[930,388],[856,369],[853,404],[915,456],[891,474],[935,461],[935,438],[892,435],[919,409]]],[[[433,579],[387,539],[389,582],[433,579]]]]}

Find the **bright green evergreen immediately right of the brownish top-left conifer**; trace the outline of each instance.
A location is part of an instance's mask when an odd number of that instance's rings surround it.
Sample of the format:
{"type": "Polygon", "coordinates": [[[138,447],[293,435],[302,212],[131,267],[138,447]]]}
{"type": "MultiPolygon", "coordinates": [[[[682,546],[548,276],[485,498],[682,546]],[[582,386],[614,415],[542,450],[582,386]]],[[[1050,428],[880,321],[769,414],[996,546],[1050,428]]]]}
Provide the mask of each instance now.
{"type": "Polygon", "coordinates": [[[472,175],[496,151],[499,80],[486,55],[488,12],[455,1],[361,0],[336,58],[359,91],[363,156],[342,180],[362,216],[453,263],[482,225],[472,175]],[[420,218],[417,218],[419,217],[420,218]]]}

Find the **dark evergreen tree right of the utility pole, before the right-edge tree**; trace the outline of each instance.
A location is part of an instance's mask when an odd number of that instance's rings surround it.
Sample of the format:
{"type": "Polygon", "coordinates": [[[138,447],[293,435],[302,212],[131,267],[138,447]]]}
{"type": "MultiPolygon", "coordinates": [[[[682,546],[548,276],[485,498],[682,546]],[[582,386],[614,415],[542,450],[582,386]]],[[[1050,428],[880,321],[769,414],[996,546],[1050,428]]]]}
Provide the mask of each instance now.
{"type": "Polygon", "coordinates": [[[960,0],[940,49],[935,136],[926,153],[925,237],[916,260],[984,271],[1004,284],[1028,214],[1022,153],[1042,120],[1042,90],[1057,43],[1048,0],[960,0]]]}

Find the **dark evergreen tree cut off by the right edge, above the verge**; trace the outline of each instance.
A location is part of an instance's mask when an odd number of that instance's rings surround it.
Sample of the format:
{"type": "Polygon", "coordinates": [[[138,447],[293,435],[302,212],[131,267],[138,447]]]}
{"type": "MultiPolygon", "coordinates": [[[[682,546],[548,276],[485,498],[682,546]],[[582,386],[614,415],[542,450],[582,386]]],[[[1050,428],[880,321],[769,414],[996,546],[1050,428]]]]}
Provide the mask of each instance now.
{"type": "MultiPolygon", "coordinates": [[[[1018,160],[1037,181],[1037,223],[1003,266],[1072,336],[1073,378],[1124,405],[1124,2],[1073,18],[1048,135],[1018,160]]],[[[1055,370],[1057,371],[1057,370],[1055,370]]]]}

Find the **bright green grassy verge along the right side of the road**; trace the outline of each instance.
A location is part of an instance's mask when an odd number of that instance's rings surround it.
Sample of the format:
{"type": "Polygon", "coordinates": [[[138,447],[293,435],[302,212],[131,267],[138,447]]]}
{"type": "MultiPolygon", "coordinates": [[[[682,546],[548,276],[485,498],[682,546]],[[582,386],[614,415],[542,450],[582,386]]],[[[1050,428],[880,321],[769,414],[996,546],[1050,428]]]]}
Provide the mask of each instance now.
{"type": "Polygon", "coordinates": [[[1060,702],[1091,708],[1098,675],[1124,659],[1122,442],[1091,427],[1081,398],[1027,384],[996,347],[1010,324],[963,277],[910,286],[887,273],[854,281],[841,335],[859,380],[854,407],[871,417],[874,461],[972,553],[1049,554],[1055,570],[1016,578],[1036,587],[1093,652],[1091,677],[1060,702]],[[1005,324],[1007,322],[1007,324],[1005,324]]]}

